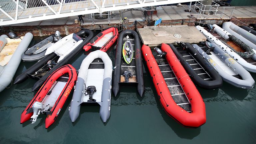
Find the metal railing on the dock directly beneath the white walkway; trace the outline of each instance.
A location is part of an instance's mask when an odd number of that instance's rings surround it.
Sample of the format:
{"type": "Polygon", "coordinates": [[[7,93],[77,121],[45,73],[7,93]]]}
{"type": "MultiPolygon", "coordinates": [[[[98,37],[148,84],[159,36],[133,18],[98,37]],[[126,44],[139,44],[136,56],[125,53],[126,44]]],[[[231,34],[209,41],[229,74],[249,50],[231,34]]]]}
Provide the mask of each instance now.
{"type": "Polygon", "coordinates": [[[82,25],[88,24],[111,24],[121,23],[122,18],[119,11],[109,11],[103,13],[86,14],[83,17],[82,25]]]}

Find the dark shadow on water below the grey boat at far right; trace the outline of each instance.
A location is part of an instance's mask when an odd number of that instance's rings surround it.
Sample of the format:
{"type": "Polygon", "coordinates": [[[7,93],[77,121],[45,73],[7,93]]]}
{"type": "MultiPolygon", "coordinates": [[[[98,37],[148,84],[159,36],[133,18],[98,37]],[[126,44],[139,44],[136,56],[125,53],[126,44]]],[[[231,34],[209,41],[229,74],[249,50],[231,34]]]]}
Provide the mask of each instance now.
{"type": "Polygon", "coordinates": [[[237,88],[226,82],[223,82],[223,85],[220,89],[230,97],[237,100],[243,100],[248,95],[247,89],[237,88]]]}

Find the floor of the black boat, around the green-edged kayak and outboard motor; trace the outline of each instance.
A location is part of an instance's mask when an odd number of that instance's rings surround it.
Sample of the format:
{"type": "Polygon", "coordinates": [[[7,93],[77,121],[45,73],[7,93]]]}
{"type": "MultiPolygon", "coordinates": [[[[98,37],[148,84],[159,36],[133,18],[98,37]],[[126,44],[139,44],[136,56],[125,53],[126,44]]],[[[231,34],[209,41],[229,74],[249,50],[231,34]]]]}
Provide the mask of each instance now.
{"type": "MultiPolygon", "coordinates": [[[[123,44],[125,41],[127,40],[130,40],[132,46],[133,46],[133,50],[135,50],[135,47],[134,47],[134,39],[127,39],[127,38],[124,38],[123,39],[123,44]]],[[[136,79],[136,65],[135,65],[135,51],[133,51],[133,58],[132,58],[132,61],[131,63],[127,64],[123,58],[123,55],[122,55],[122,62],[121,62],[121,79],[120,79],[120,82],[125,82],[125,77],[123,76],[123,72],[124,71],[131,71],[132,73],[132,78],[129,78],[129,82],[135,82],[137,83],[137,79],[136,79]]]]}

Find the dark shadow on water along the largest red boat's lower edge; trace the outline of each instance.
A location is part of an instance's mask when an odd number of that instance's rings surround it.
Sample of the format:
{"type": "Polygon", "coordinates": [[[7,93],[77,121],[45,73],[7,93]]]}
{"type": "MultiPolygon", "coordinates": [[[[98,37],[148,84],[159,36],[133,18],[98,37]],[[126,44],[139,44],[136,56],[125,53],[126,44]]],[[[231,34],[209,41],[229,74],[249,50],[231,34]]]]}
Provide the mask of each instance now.
{"type": "Polygon", "coordinates": [[[153,90],[153,94],[156,99],[157,103],[157,108],[162,115],[164,121],[166,124],[168,124],[172,130],[177,134],[178,137],[183,138],[183,139],[193,139],[194,137],[198,136],[201,132],[201,127],[198,128],[187,128],[176,122],[174,119],[172,119],[163,109],[163,107],[160,104],[159,99],[156,97],[157,92],[155,89],[153,90]]]}

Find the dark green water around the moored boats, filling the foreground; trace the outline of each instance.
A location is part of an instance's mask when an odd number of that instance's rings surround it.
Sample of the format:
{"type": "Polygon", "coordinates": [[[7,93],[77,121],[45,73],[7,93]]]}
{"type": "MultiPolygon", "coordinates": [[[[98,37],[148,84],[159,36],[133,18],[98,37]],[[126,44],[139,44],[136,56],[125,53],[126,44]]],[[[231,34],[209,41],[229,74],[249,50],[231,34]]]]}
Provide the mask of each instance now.
{"type": "MultiPolygon", "coordinates": [[[[114,59],[114,50],[108,54],[114,59]]],[[[79,69],[85,56],[80,52],[70,64],[79,69]]],[[[15,77],[32,64],[21,62],[15,77]]],[[[185,128],[164,112],[145,64],[143,69],[144,97],[139,97],[136,87],[123,87],[120,95],[112,97],[106,124],[100,119],[99,106],[82,106],[79,118],[72,124],[68,115],[72,93],[49,129],[45,129],[45,115],[40,115],[35,124],[20,124],[22,111],[35,95],[31,92],[35,80],[10,86],[0,93],[0,143],[256,143],[255,87],[245,90],[224,83],[215,90],[198,88],[205,101],[207,121],[199,128],[185,128]]],[[[252,76],[256,79],[256,74],[252,76]]]]}

